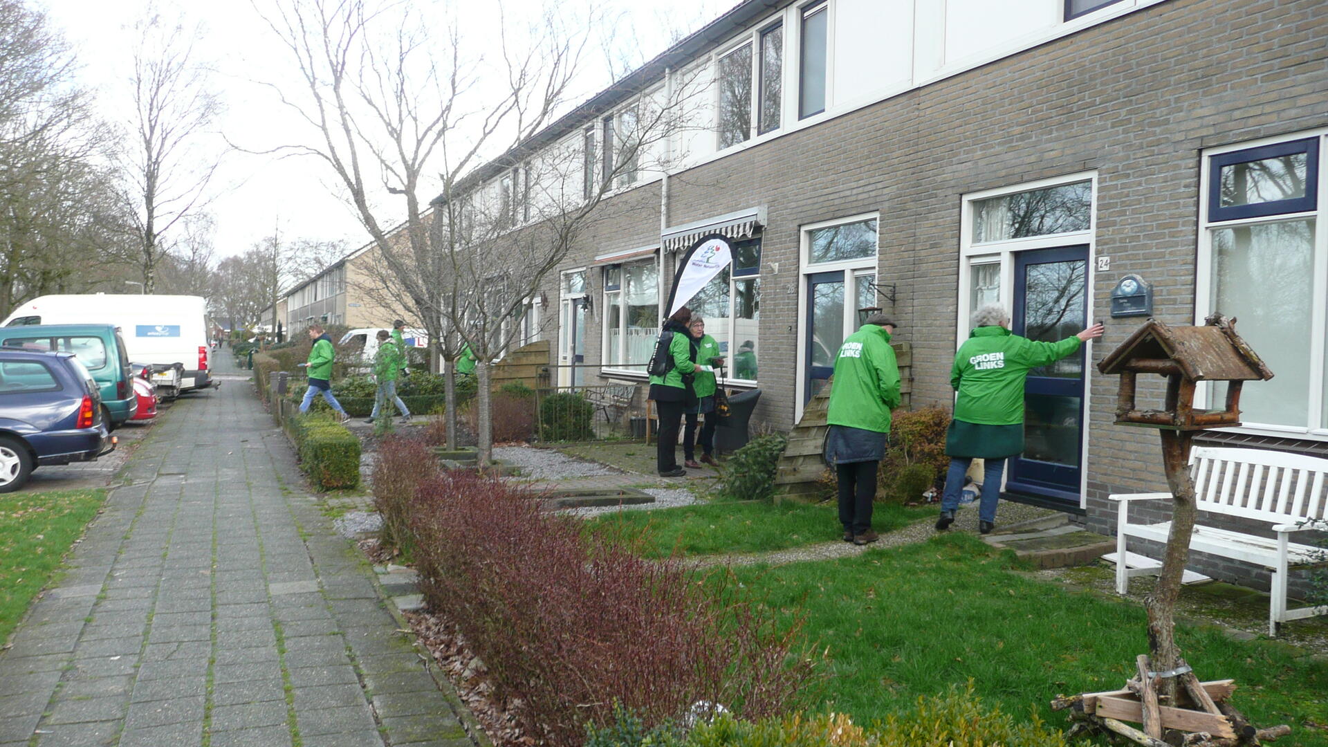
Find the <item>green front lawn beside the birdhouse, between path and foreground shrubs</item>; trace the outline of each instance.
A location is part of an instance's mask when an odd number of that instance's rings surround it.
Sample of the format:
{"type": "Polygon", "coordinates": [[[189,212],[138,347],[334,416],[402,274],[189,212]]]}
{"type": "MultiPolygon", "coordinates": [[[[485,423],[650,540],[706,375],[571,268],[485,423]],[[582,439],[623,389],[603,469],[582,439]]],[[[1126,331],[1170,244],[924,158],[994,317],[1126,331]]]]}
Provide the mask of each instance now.
{"type": "MultiPolygon", "coordinates": [[[[1145,613],[1027,578],[1012,564],[973,537],[946,536],[734,573],[782,619],[805,615],[807,643],[827,651],[830,677],[810,707],[829,703],[869,723],[972,679],[989,704],[1062,724],[1048,707],[1057,694],[1123,686],[1147,653],[1145,613]]],[[[1328,746],[1328,665],[1208,629],[1182,627],[1178,641],[1202,679],[1236,681],[1234,704],[1252,723],[1287,723],[1293,732],[1283,742],[1328,746]]]]}

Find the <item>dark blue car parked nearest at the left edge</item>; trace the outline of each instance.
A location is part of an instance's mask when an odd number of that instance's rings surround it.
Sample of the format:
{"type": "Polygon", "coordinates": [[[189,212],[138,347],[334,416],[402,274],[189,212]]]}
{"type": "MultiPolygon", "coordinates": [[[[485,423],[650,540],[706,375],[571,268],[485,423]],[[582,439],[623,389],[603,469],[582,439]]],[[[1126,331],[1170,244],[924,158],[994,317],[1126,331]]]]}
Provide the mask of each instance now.
{"type": "Polygon", "coordinates": [[[39,465],[92,461],[116,448],[92,374],[73,354],[0,348],[0,493],[39,465]]]}

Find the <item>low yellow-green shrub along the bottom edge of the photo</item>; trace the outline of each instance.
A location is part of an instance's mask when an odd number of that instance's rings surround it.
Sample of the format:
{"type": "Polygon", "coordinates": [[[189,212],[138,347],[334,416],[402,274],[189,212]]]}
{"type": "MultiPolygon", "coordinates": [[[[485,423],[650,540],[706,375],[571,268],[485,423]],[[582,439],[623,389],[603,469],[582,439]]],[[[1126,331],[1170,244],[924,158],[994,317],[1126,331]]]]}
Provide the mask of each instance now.
{"type": "Polygon", "coordinates": [[[1065,747],[1065,736],[1036,714],[1016,723],[1000,708],[983,706],[967,689],[919,698],[916,706],[870,727],[847,714],[791,714],[760,722],[721,714],[683,735],[672,728],[644,728],[639,719],[615,712],[606,726],[587,728],[587,747],[1065,747]]]}

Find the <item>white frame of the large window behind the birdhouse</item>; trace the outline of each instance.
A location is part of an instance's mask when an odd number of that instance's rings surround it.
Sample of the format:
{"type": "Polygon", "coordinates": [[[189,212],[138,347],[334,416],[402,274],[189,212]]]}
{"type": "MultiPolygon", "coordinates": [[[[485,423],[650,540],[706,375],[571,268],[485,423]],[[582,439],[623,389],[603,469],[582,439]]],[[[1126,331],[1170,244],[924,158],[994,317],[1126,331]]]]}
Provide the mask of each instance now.
{"type": "MultiPolygon", "coordinates": [[[[1270,423],[1246,423],[1239,428],[1218,428],[1218,431],[1228,433],[1251,433],[1259,436],[1280,436],[1280,437],[1296,437],[1313,441],[1328,441],[1328,419],[1323,417],[1323,404],[1324,404],[1324,376],[1328,375],[1324,367],[1325,343],[1324,336],[1328,332],[1328,128],[1317,128],[1312,130],[1301,130],[1296,133],[1280,134],[1276,137],[1266,137],[1260,140],[1251,140],[1246,142],[1238,142],[1231,145],[1223,145],[1219,148],[1204,149],[1199,160],[1199,237],[1198,237],[1198,254],[1195,257],[1194,266],[1194,323],[1203,324],[1203,319],[1208,315],[1208,304],[1212,300],[1212,229],[1219,227],[1232,227],[1232,226],[1252,226],[1258,223],[1279,223],[1283,221],[1303,221],[1311,218],[1315,221],[1315,242],[1313,242],[1313,284],[1312,284],[1312,304],[1311,308],[1315,310],[1315,316],[1311,319],[1309,324],[1309,399],[1307,404],[1307,415],[1309,417],[1319,420],[1319,427],[1313,428],[1308,423],[1303,428],[1293,425],[1276,425],[1270,423]],[[1210,221],[1208,219],[1208,179],[1211,174],[1211,162],[1214,156],[1220,156],[1223,153],[1234,153],[1236,150],[1248,150],[1251,148],[1262,148],[1264,145],[1278,145],[1280,142],[1289,142],[1293,140],[1307,140],[1311,137],[1319,138],[1319,203],[1315,210],[1300,211],[1300,213],[1283,213],[1279,215],[1262,215],[1258,218],[1244,218],[1234,221],[1210,221]],[[1316,415],[1317,413],[1317,415],[1316,415]]],[[[1239,323],[1238,323],[1239,331],[1239,323]]],[[[1258,351],[1258,343],[1255,343],[1258,351]]],[[[1276,371],[1274,371],[1276,374],[1276,371]]],[[[1250,381],[1246,387],[1260,385],[1259,381],[1250,381]]],[[[1268,384],[1263,384],[1268,385],[1268,384]]],[[[1274,383],[1272,385],[1276,385],[1274,383]]],[[[1204,401],[1208,396],[1208,384],[1201,381],[1194,392],[1197,401],[1204,401]]]]}

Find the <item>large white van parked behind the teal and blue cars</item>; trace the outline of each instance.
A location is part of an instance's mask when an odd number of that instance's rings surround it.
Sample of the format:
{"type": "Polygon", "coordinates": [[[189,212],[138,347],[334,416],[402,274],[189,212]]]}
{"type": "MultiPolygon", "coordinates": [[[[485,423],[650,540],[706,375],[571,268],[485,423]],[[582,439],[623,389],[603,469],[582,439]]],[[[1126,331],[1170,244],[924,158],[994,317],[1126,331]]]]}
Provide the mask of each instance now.
{"type": "Polygon", "coordinates": [[[15,308],[3,327],[23,324],[114,324],[133,363],[155,367],[165,399],[214,384],[207,339],[207,302],[197,295],[44,295],[15,308]]]}

